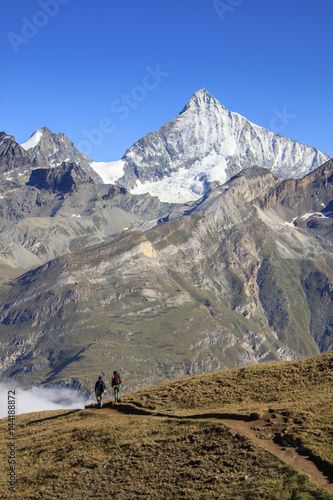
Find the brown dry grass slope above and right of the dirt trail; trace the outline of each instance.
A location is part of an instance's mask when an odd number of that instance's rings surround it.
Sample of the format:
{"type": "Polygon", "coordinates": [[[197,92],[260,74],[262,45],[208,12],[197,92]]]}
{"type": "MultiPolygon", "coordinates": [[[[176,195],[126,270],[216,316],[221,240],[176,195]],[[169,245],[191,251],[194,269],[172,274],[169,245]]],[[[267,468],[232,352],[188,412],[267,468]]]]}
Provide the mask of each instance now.
{"type": "Polygon", "coordinates": [[[259,417],[269,410],[268,431],[306,447],[333,476],[333,351],[295,362],[184,377],[132,392],[122,400],[182,416],[256,413],[259,417]],[[283,423],[276,426],[278,415],[283,423]]]}

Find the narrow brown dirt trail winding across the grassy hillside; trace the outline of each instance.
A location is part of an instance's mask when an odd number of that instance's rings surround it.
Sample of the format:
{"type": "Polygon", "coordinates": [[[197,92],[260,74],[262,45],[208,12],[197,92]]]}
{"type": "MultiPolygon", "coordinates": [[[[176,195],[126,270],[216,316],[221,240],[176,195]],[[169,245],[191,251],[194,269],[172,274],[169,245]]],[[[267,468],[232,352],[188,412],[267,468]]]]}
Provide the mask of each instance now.
{"type": "MultiPolygon", "coordinates": [[[[121,405],[125,406],[125,405],[121,405]]],[[[94,410],[93,408],[89,408],[90,410],[94,410]]],[[[119,405],[119,408],[102,408],[98,410],[98,413],[101,414],[108,414],[110,417],[117,417],[119,418],[120,416],[123,418],[126,418],[126,416],[130,413],[135,413],[133,412],[133,408],[131,409],[132,411],[129,411],[128,409],[126,410],[125,408],[121,408],[119,405]]],[[[96,408],[97,411],[97,408],[96,408]]],[[[138,412],[139,413],[139,412],[138,412]]],[[[274,442],[274,436],[271,434],[265,434],[261,432],[261,428],[258,427],[258,422],[251,420],[251,421],[246,421],[246,420],[241,420],[239,419],[239,416],[237,418],[218,418],[216,416],[200,416],[198,415],[193,415],[193,417],[186,416],[176,416],[176,415],[161,415],[161,414],[151,414],[151,415],[145,415],[146,417],[150,418],[164,418],[164,419],[170,419],[170,418],[175,418],[175,419],[181,419],[184,420],[184,418],[191,420],[205,420],[205,421],[214,421],[214,422],[220,422],[222,424],[225,424],[232,429],[234,429],[236,432],[239,434],[242,434],[243,436],[246,436],[249,438],[255,446],[260,446],[261,448],[264,448],[265,450],[269,451],[271,454],[275,455],[276,457],[280,458],[283,462],[291,465],[294,469],[296,469],[298,472],[302,474],[307,474],[311,481],[316,483],[319,487],[324,488],[326,491],[328,491],[330,494],[333,495],[333,482],[331,482],[332,478],[328,477],[325,475],[321,470],[318,469],[318,467],[315,465],[315,463],[311,460],[311,458],[307,455],[300,454],[299,452],[296,451],[295,448],[292,446],[283,446],[280,444],[277,444],[274,442]]]]}

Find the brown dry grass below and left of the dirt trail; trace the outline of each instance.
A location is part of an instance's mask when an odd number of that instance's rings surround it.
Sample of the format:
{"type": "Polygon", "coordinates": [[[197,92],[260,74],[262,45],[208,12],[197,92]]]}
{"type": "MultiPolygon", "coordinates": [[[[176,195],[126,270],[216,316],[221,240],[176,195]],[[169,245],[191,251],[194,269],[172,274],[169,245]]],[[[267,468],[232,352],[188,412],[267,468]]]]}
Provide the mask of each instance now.
{"type": "Polygon", "coordinates": [[[18,483],[2,498],[330,498],[219,423],[96,410],[30,414],[17,423],[18,483]]]}

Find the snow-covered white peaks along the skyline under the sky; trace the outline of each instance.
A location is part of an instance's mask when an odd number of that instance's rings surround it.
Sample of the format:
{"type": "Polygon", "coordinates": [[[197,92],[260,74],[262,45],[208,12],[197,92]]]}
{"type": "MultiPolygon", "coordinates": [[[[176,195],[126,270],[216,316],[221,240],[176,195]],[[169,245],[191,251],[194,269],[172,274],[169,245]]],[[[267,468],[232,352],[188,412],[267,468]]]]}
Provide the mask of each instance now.
{"type": "Polygon", "coordinates": [[[197,200],[253,165],[281,178],[300,178],[330,158],[228,111],[205,89],[193,94],[176,119],[133,144],[119,161],[94,162],[64,134],[45,127],[22,147],[44,164],[78,163],[97,182],[168,203],[197,200]]]}

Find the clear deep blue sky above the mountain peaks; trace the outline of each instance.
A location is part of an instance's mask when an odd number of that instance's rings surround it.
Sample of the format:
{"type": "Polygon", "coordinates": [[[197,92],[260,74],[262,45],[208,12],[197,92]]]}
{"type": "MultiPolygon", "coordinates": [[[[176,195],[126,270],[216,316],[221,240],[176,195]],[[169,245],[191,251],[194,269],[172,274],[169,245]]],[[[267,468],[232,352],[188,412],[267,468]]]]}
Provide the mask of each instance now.
{"type": "Polygon", "coordinates": [[[122,157],[199,88],[333,156],[330,0],[1,2],[0,130],[122,157]]]}

